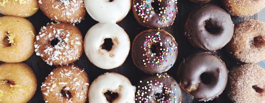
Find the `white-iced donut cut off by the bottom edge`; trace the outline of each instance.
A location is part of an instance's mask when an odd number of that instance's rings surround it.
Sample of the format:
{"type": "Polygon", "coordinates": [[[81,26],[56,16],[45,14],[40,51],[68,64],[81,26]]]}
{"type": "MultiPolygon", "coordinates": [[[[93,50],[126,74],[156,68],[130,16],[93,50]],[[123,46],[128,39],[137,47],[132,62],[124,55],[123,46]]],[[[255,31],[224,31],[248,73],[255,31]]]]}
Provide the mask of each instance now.
{"type": "Polygon", "coordinates": [[[110,72],[98,76],[90,85],[88,98],[90,103],[135,103],[135,86],[130,80],[118,73],[110,72]],[[105,97],[106,92],[116,93],[113,100],[105,97]]]}

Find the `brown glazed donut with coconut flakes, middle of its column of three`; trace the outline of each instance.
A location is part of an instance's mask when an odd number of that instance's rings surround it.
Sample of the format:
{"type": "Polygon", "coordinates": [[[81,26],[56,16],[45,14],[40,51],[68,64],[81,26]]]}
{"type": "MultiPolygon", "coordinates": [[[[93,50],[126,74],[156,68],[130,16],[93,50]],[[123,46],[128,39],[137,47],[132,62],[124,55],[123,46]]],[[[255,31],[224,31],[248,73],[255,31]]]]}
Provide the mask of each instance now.
{"type": "Polygon", "coordinates": [[[49,23],[36,36],[35,52],[48,65],[62,66],[75,62],[83,53],[83,37],[72,24],[49,23]]]}

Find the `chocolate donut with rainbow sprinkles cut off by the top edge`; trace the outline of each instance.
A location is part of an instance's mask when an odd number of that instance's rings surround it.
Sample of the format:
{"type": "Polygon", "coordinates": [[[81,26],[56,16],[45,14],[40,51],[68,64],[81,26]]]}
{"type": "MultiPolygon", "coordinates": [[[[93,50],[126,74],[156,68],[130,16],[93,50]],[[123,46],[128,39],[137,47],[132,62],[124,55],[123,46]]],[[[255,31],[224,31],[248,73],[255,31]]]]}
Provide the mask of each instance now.
{"type": "Polygon", "coordinates": [[[133,0],[133,15],[143,27],[161,28],[174,23],[177,0],[133,0]]]}

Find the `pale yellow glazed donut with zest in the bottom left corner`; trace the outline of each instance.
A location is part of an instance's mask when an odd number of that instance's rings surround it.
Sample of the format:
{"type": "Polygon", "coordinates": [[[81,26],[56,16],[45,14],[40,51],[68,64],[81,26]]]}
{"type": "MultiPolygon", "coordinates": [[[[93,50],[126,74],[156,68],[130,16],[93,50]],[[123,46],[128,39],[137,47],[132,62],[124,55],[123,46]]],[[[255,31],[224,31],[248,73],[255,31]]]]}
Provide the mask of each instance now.
{"type": "Polygon", "coordinates": [[[0,102],[26,103],[37,89],[37,79],[25,63],[0,65],[0,102]]]}

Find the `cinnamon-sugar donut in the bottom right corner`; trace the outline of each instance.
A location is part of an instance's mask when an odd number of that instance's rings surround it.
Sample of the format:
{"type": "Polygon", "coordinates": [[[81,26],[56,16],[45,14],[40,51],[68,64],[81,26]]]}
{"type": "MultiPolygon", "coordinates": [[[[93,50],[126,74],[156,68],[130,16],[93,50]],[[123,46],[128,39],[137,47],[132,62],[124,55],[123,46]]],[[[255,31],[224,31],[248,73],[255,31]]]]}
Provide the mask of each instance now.
{"type": "Polygon", "coordinates": [[[234,103],[265,102],[265,70],[255,64],[232,67],[228,74],[226,94],[234,103]]]}

